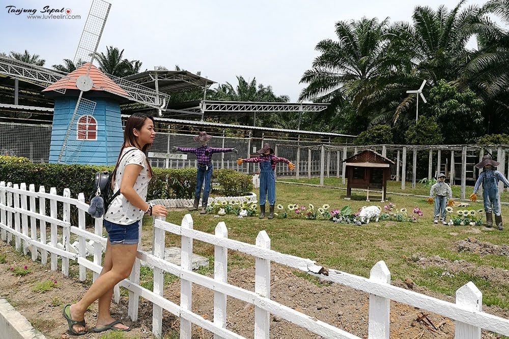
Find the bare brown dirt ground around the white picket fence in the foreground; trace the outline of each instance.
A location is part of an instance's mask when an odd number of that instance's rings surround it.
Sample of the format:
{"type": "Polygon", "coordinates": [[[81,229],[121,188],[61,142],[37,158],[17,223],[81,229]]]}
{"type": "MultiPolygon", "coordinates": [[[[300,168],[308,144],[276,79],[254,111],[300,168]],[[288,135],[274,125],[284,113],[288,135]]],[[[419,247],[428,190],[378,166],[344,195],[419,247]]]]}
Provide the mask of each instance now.
{"type": "MultiPolygon", "coordinates": [[[[48,338],[68,338],[67,324],[62,317],[62,305],[79,299],[88,288],[76,279],[67,278],[60,272],[54,272],[40,263],[32,262],[30,258],[14,252],[8,244],[0,241],[0,254],[5,255],[5,262],[0,263],[1,297],[6,298],[23,316],[42,331],[48,338]],[[31,272],[24,276],[16,276],[13,268],[27,266],[31,272]],[[37,283],[56,281],[55,287],[47,292],[36,292],[37,283]]],[[[434,259],[435,260],[435,259],[434,259]]],[[[436,259],[438,260],[438,259],[436,259]]],[[[430,261],[435,264],[435,261],[430,261]]],[[[445,264],[441,262],[442,264],[445,264]]],[[[230,284],[248,290],[254,290],[254,269],[245,268],[229,272],[230,284]]],[[[410,282],[395,281],[393,285],[409,288],[416,292],[438,297],[447,301],[453,298],[438,295],[425,288],[415,286],[410,282]]],[[[164,296],[179,303],[180,283],[174,282],[166,287],[164,296]]],[[[369,295],[354,289],[328,283],[310,282],[299,278],[291,269],[272,265],[271,269],[271,299],[315,317],[348,332],[367,338],[367,321],[369,295]]],[[[193,285],[193,312],[202,317],[213,320],[213,294],[210,290],[193,285]]],[[[440,315],[428,313],[415,307],[391,301],[390,337],[391,338],[453,338],[454,321],[440,315]]],[[[491,314],[508,317],[506,310],[498,307],[483,307],[491,314]]],[[[86,313],[89,326],[94,326],[97,305],[93,304],[86,313]]],[[[112,316],[126,317],[127,298],[123,297],[120,304],[112,304],[112,316]]],[[[179,320],[175,316],[164,312],[163,331],[178,334],[179,320]]],[[[248,338],[253,337],[254,307],[233,297],[228,298],[228,328],[248,338]]],[[[138,320],[134,323],[126,320],[132,330],[126,337],[140,339],[153,338],[152,304],[140,300],[138,320]]],[[[290,324],[286,320],[272,316],[271,338],[319,338],[320,336],[301,327],[290,324]]],[[[89,333],[83,338],[99,338],[101,333],[89,333]]],[[[212,334],[193,326],[193,338],[210,338],[212,334]]],[[[483,338],[496,338],[497,336],[483,331],[483,338]]]]}

